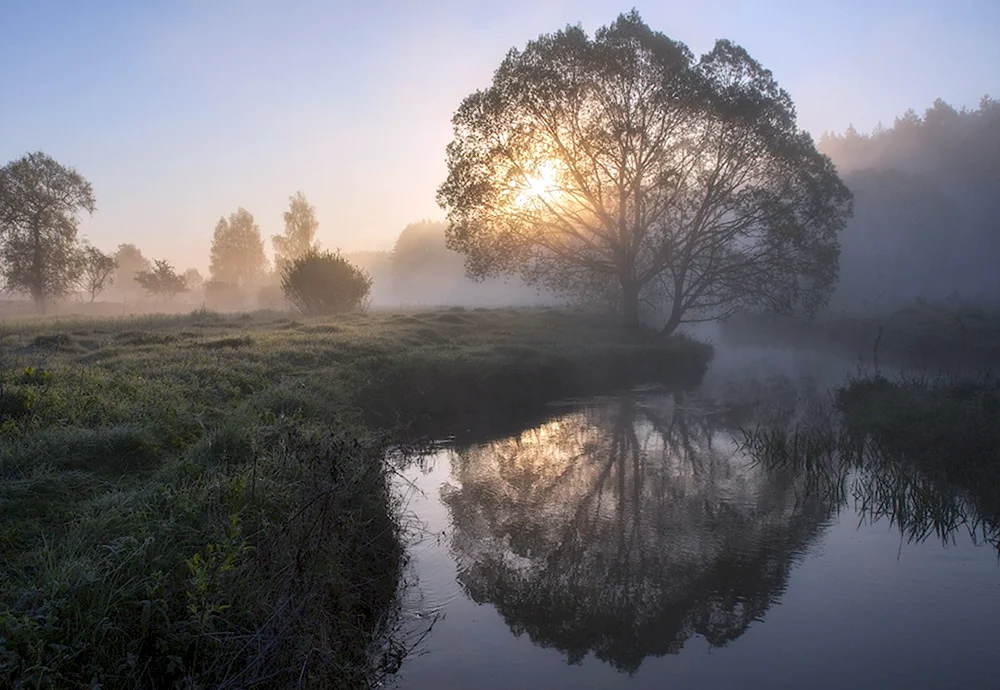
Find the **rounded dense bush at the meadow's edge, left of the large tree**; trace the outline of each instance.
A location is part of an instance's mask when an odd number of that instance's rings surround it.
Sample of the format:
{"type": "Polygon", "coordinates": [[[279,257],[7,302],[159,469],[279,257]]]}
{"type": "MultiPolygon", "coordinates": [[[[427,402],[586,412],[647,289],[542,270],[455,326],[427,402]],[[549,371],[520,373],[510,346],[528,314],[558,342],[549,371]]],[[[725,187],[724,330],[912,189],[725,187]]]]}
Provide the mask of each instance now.
{"type": "Polygon", "coordinates": [[[365,305],[372,279],[364,270],[331,252],[311,251],[285,265],[281,291],[303,314],[336,314],[365,305]]]}

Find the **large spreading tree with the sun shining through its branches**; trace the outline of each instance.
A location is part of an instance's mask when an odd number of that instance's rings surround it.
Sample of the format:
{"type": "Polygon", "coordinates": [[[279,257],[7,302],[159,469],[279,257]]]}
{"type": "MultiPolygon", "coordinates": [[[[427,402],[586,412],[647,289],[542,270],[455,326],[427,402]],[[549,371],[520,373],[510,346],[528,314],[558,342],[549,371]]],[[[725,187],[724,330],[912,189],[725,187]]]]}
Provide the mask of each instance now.
{"type": "Polygon", "coordinates": [[[475,277],[611,297],[665,331],[753,304],[811,311],[851,197],[788,94],[718,41],[695,60],[635,11],[512,50],[463,101],[438,201],[475,277]]]}

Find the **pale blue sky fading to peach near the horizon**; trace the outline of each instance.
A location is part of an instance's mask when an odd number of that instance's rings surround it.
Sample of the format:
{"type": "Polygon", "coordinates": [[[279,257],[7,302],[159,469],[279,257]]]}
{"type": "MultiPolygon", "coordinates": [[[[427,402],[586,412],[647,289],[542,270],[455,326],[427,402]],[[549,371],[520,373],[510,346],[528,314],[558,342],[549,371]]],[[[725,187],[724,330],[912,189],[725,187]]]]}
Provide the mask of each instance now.
{"type": "Polygon", "coordinates": [[[280,232],[296,191],[325,247],[390,249],[443,218],[451,116],[507,51],[632,7],[695,54],[743,45],[817,137],[1000,96],[996,0],[0,0],[0,165],[75,167],[91,242],[180,269],[205,270],[240,206],[280,232]]]}

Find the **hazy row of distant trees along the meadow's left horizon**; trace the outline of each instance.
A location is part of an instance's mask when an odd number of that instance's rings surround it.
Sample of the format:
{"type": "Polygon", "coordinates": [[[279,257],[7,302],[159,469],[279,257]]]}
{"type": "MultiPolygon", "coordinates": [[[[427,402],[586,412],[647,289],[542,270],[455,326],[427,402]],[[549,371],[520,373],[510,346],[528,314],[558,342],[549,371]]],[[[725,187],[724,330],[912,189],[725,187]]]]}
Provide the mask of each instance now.
{"type": "MultiPolygon", "coordinates": [[[[29,297],[44,313],[60,301],[111,303],[128,311],[204,304],[213,309],[281,308],[283,274],[320,250],[319,223],[300,192],[289,200],[284,230],[273,235],[269,260],[253,214],[239,208],[221,217],[212,235],[207,276],[165,258],[146,256],[136,243],[113,251],[91,245],[79,222],[92,214],[90,183],[50,156],[29,153],[0,168],[0,275],[5,292],[29,297]]],[[[408,225],[392,251],[345,256],[364,270],[376,304],[514,304],[543,297],[520,281],[474,283],[460,254],[445,246],[444,223],[408,225]]],[[[98,305],[99,306],[99,305],[98,305]]],[[[91,308],[97,308],[91,307],[91,308]]]]}

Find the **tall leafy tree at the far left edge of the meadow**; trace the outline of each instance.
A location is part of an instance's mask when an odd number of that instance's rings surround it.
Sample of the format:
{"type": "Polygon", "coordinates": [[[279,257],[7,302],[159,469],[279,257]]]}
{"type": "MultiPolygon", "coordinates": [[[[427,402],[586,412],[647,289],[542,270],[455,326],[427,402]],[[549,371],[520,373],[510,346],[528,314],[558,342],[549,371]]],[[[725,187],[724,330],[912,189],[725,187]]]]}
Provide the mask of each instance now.
{"type": "Polygon", "coordinates": [[[40,151],[0,168],[0,269],[6,289],[45,311],[80,277],[80,213],[94,212],[90,183],[40,151]]]}

